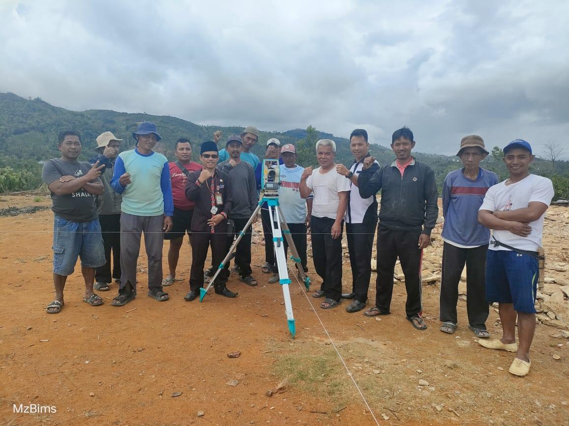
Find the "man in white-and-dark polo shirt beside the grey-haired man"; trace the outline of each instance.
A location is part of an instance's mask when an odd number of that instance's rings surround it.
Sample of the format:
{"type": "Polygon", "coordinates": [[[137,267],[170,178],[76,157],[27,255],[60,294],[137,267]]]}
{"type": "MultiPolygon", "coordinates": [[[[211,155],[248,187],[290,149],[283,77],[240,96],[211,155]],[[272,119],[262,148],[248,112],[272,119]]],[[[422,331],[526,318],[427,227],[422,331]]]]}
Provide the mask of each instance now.
{"type": "MultiPolygon", "coordinates": [[[[350,150],[356,157],[352,167],[347,169],[343,164],[339,164],[336,170],[350,181],[346,236],[352,267],[352,289],[349,293],[343,293],[342,298],[354,299],[346,307],[346,311],[357,312],[365,307],[368,300],[369,280],[372,277],[373,236],[377,226],[376,194],[361,198],[357,187],[357,178],[364,167],[364,159],[369,157],[368,132],[364,129],[354,130],[350,135],[350,150]]],[[[369,173],[375,173],[379,169],[380,165],[376,161],[370,166],[369,173]]]]}

